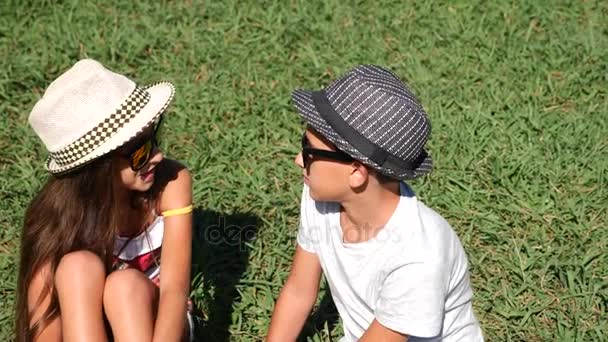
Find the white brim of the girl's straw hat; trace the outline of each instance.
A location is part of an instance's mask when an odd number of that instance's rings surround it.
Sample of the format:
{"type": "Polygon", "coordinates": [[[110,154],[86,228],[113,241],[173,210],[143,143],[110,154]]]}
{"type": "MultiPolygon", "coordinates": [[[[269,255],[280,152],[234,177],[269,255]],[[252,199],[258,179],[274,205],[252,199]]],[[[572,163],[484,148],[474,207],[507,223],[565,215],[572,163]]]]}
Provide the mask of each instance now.
{"type": "Polygon", "coordinates": [[[124,145],[129,140],[143,132],[152,123],[158,120],[158,117],[163,114],[167,106],[173,100],[175,87],[170,82],[159,82],[150,86],[144,87],[150,94],[150,100],[139,111],[133,119],[125,124],[116,134],[103,142],[89,154],[78,159],[68,165],[59,165],[53,158],[48,158],[46,161],[46,169],[53,174],[62,174],[82,167],[85,164],[106,155],[118,147],[124,145]]]}

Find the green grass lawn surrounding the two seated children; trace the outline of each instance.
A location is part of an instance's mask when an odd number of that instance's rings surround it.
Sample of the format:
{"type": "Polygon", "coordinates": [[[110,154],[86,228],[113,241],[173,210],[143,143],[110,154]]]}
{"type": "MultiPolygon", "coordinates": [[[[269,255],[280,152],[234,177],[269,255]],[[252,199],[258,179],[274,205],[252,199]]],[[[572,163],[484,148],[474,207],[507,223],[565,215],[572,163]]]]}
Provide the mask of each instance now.
{"type": "MultiPolygon", "coordinates": [[[[297,230],[290,92],[359,63],[394,70],[429,113],[435,170],[412,186],[465,246],[487,339],[607,340],[608,3],[541,3],[3,1],[0,339],[24,210],[46,177],[27,117],[92,57],[177,86],[163,144],[195,178],[207,340],[264,337],[297,230]],[[213,225],[243,238],[213,243],[213,225]]],[[[336,341],[327,298],[321,308],[305,335],[336,341]]]]}

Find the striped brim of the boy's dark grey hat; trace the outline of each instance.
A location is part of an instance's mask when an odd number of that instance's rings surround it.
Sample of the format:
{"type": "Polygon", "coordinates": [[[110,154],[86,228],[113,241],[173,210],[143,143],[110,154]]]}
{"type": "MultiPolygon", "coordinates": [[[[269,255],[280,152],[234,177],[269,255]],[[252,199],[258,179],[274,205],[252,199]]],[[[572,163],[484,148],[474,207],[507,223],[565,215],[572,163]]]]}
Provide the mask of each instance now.
{"type": "Polygon", "coordinates": [[[348,141],[342,138],[327,123],[327,121],[323,119],[323,117],[317,111],[317,108],[314,105],[312,93],[313,91],[311,90],[294,90],[291,97],[293,105],[298,111],[298,114],[300,114],[300,116],[304,119],[304,121],[306,121],[307,124],[309,124],[323,137],[329,140],[332,144],[334,144],[339,150],[348,153],[348,155],[350,155],[351,157],[355,158],[356,160],[362,162],[365,165],[372,167],[379,173],[397,180],[413,179],[422,176],[432,170],[433,160],[431,159],[430,155],[427,155],[424,161],[415,170],[407,172],[396,172],[392,169],[382,167],[374,163],[368,157],[357,151],[357,149],[355,149],[348,141]]]}

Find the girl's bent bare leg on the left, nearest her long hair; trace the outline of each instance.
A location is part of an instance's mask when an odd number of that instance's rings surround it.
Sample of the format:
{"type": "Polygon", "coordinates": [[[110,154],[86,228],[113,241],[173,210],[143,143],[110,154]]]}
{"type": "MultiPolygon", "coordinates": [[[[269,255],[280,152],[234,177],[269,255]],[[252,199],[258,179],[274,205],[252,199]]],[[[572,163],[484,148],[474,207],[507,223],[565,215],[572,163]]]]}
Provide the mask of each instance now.
{"type": "Polygon", "coordinates": [[[55,286],[61,308],[63,341],[107,341],[103,323],[105,269],[101,259],[88,251],[61,258],[55,286]]]}

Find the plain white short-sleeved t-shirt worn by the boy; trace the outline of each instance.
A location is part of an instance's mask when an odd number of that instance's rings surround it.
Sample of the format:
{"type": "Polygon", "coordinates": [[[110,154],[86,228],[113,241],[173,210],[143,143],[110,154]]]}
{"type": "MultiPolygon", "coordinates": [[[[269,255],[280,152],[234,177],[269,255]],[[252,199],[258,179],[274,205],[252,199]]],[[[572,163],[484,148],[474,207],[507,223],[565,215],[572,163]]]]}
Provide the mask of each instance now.
{"type": "Polygon", "coordinates": [[[297,240],[319,258],[342,318],[341,341],[357,341],[374,319],[410,342],[483,341],[462,245],[407,184],[384,228],[354,244],[343,242],[339,204],[308,192],[304,185],[297,240]]]}

